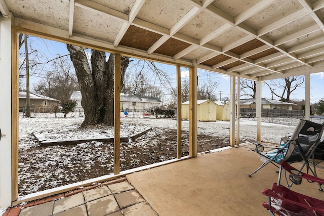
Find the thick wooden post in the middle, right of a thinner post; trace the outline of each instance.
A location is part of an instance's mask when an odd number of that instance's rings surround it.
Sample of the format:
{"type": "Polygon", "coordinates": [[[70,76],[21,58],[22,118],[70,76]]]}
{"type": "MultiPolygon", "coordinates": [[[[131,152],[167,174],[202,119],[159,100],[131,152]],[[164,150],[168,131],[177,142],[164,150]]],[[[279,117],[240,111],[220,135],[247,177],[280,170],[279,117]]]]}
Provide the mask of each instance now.
{"type": "Polygon", "coordinates": [[[189,68],[189,156],[197,157],[197,61],[189,68]]]}

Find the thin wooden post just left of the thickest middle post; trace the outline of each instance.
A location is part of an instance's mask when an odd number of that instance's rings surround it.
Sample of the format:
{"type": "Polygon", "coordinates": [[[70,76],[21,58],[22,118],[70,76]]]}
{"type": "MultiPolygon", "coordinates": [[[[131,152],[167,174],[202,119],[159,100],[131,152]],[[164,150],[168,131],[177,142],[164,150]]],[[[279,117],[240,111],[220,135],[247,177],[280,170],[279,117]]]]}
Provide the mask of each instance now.
{"type": "Polygon", "coordinates": [[[181,158],[181,67],[177,65],[177,158],[181,158]]]}

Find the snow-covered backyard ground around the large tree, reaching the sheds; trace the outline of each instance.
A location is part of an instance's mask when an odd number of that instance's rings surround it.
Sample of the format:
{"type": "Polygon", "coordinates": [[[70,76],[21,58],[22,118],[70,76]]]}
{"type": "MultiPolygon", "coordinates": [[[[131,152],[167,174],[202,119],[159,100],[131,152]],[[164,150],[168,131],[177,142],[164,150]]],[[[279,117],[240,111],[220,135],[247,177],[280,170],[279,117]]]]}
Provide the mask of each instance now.
{"type": "MultiPolygon", "coordinates": [[[[87,142],[73,146],[39,147],[32,135],[34,133],[41,140],[63,141],[91,138],[110,138],[113,127],[99,125],[91,128],[79,128],[84,117],[78,114],[68,114],[63,118],[61,113],[55,118],[54,114],[35,113],[32,118],[19,118],[19,195],[46,190],[91,178],[98,174],[110,174],[113,168],[113,144],[87,142]]],[[[82,115],[81,115],[82,116],[82,115]]],[[[294,131],[299,119],[263,118],[262,140],[278,142],[280,137],[294,131]]],[[[257,122],[254,118],[240,118],[240,139],[245,142],[248,138],[256,139],[257,122]]],[[[125,117],[121,113],[120,136],[127,137],[139,134],[148,128],[152,131],[141,142],[123,145],[120,155],[121,168],[136,166],[141,156],[155,145],[154,138],[168,140],[168,130],[177,129],[175,119],[133,118],[125,117]],[[167,133],[166,133],[167,132],[167,133]],[[130,149],[137,145],[138,152],[130,149]],[[125,158],[131,157],[130,164],[125,158]]],[[[183,131],[189,130],[189,121],[182,121],[183,131]]],[[[197,122],[198,135],[210,135],[215,138],[228,140],[229,122],[197,122]]],[[[144,136],[143,136],[144,137],[144,136]]],[[[199,140],[198,140],[199,142],[199,140]]],[[[174,148],[171,144],[159,147],[164,150],[174,148]]],[[[156,151],[153,151],[155,153],[156,151]]],[[[152,157],[152,155],[150,155],[152,157]]],[[[160,161],[174,158],[173,155],[158,156],[160,161]]]]}

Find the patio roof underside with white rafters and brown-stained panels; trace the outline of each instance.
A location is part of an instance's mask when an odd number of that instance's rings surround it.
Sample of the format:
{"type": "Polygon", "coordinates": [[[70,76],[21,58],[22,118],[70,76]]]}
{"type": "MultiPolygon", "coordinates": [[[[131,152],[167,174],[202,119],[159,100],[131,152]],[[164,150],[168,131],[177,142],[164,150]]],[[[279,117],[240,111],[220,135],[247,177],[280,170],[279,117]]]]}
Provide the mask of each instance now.
{"type": "Polygon", "coordinates": [[[32,35],[253,80],[324,71],[324,1],[2,0],[0,12],[32,35]]]}

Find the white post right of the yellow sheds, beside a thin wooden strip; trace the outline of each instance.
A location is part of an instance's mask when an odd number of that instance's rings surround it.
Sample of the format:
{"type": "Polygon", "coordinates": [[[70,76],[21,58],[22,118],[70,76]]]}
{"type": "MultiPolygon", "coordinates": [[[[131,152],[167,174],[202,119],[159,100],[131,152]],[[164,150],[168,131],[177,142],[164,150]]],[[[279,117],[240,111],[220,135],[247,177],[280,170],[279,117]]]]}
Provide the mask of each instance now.
{"type": "Polygon", "coordinates": [[[230,77],[229,90],[229,144],[235,146],[235,76],[230,77]]]}

